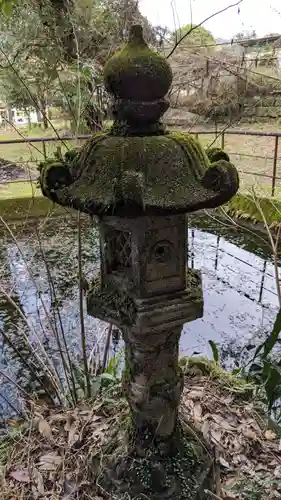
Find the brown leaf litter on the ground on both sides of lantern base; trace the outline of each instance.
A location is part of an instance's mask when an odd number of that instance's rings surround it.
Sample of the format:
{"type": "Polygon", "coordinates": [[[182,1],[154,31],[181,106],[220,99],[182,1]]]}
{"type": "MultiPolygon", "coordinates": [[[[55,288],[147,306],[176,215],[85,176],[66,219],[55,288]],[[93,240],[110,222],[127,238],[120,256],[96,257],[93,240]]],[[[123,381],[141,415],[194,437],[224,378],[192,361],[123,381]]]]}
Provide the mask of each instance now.
{"type": "MultiPolygon", "coordinates": [[[[0,457],[0,500],[109,498],[99,476],[124,441],[128,417],[120,388],[73,409],[34,405],[26,428],[9,440],[2,467],[0,457]]],[[[281,499],[281,432],[268,426],[254,400],[209,376],[188,375],[180,419],[213,450],[216,491],[210,498],[281,499]]]]}

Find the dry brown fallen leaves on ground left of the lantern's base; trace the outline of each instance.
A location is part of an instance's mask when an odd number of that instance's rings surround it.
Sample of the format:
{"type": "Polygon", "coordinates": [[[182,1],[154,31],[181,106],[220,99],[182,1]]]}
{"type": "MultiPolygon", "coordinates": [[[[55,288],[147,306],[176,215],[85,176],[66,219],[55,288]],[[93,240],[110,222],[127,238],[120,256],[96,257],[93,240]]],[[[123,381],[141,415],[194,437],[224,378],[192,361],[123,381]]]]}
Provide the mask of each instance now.
{"type": "Polygon", "coordinates": [[[100,500],[94,487],[100,457],[104,443],[114,439],[123,408],[122,402],[107,405],[106,412],[102,402],[59,413],[34,408],[30,428],[2,474],[0,469],[0,500],[100,500]]]}

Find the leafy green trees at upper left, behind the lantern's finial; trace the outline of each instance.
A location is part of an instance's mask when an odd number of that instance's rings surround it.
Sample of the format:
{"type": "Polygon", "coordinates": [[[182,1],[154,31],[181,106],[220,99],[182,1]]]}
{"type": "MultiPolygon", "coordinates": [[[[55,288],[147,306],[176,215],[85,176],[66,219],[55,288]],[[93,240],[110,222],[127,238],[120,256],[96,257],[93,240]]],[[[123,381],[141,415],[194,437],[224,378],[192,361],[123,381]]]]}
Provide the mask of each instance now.
{"type": "Polygon", "coordinates": [[[89,126],[100,106],[103,64],[132,24],[140,22],[150,43],[157,43],[157,31],[135,0],[6,0],[0,7],[1,98],[40,110],[45,127],[54,103],[76,127],[85,116],[89,126]]]}

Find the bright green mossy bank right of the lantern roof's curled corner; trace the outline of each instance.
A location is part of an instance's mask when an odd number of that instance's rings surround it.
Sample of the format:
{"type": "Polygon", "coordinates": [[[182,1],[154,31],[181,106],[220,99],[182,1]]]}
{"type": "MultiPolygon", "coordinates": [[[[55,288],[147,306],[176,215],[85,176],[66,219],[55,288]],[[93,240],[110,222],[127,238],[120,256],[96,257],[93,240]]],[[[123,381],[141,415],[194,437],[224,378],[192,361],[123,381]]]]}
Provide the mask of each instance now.
{"type": "Polygon", "coordinates": [[[270,197],[257,197],[258,204],[250,195],[238,193],[224,209],[233,217],[249,220],[253,223],[264,223],[262,213],[269,226],[274,228],[281,221],[281,200],[270,197]]]}

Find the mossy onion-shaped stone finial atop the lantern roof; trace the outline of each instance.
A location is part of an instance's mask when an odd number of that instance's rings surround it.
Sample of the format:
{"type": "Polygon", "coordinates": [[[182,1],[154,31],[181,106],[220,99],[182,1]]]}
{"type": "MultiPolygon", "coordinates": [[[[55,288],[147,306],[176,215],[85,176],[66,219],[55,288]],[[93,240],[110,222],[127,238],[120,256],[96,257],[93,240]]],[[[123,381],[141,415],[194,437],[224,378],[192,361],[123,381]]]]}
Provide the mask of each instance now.
{"type": "Polygon", "coordinates": [[[142,26],[132,26],[128,43],[109,59],[104,82],[114,99],[116,135],[163,133],[157,124],[169,107],[165,96],[172,71],[167,60],[148,47],[142,26]]]}

